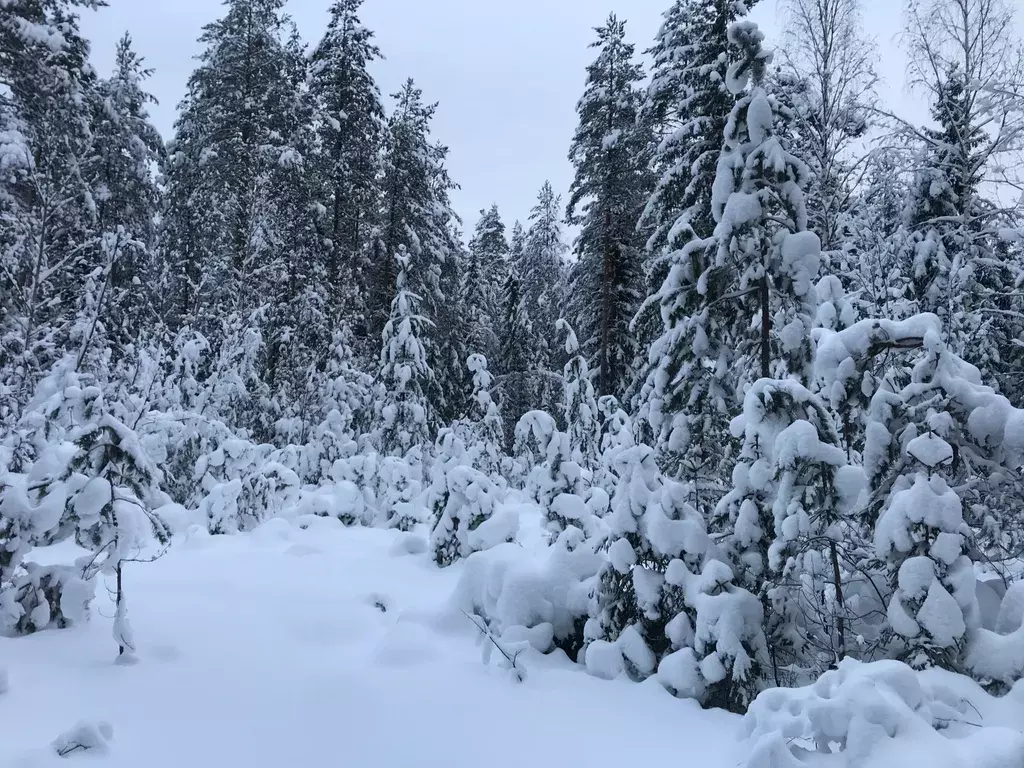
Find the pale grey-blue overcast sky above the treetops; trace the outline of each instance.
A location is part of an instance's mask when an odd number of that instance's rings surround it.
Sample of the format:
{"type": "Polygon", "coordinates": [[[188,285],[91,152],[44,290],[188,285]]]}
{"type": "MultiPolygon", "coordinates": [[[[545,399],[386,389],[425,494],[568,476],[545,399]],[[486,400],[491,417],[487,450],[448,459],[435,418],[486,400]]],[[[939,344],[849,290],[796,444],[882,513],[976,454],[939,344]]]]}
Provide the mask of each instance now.
{"type": "MultiPolygon", "coordinates": [[[[904,90],[905,65],[894,40],[900,0],[865,0],[867,32],[880,52],[882,96],[907,117],[926,114],[904,90]]],[[[117,40],[127,31],[155,70],[150,90],[157,127],[170,138],[175,111],[200,48],[204,25],[222,12],[220,0],[108,0],[84,12],[100,74],[112,68],[117,40]]],[[[367,0],[361,18],[374,30],[386,60],[374,68],[381,91],[414,77],[438,101],[434,135],[451,147],[449,167],[461,185],[457,212],[472,230],[480,208],[498,203],[511,228],[525,220],[538,188],[550,179],[564,195],[572,179],[566,160],[575,128],[575,102],[594,57],[593,28],[609,11],[628,20],[638,51],[649,47],[672,0],[367,0]]],[[[290,0],[287,12],[311,45],[327,26],[331,0],[290,0]]],[[[762,0],[754,18],[767,43],[778,42],[775,0],[762,0]]],[[[390,103],[390,99],[388,99],[390,103]]]]}

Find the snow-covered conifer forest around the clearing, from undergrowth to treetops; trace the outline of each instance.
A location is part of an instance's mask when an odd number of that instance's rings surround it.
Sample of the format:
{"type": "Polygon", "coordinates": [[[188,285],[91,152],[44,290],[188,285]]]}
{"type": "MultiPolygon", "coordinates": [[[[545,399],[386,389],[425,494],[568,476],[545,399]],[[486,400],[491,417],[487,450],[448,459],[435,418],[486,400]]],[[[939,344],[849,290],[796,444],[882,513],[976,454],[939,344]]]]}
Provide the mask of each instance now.
{"type": "Polygon", "coordinates": [[[848,658],[1024,677],[1011,0],[909,1],[927,125],[876,95],[859,0],[783,0],[780,41],[739,1],[641,43],[610,15],[571,186],[466,222],[362,0],[313,41],[224,0],[171,136],[144,50],[90,65],[102,5],[0,0],[0,634],[116,580],[133,654],[182,520],[421,531],[445,568],[516,500],[562,563],[522,623],[599,677],[733,712],[848,658]]]}

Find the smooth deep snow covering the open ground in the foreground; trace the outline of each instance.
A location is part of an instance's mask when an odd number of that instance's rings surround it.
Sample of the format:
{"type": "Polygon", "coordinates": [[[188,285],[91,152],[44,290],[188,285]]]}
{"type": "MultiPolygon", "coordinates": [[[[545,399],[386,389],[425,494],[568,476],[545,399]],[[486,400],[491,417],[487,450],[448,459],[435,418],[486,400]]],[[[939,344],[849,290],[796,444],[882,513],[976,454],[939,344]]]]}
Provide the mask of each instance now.
{"type": "MultiPolygon", "coordinates": [[[[541,557],[537,515],[520,513],[523,557],[541,557]]],[[[114,664],[102,587],[88,625],[0,638],[0,767],[67,765],[51,743],[84,722],[66,743],[103,742],[109,724],[105,749],[86,757],[108,768],[1024,768],[1024,688],[994,699],[944,673],[919,686],[895,663],[902,678],[852,667],[816,691],[759,699],[745,722],[654,679],[590,677],[560,652],[524,653],[517,682],[497,652],[484,662],[454,607],[465,563],[438,569],[416,541],[308,517],[179,537],[164,558],[126,568],[137,664],[114,664]],[[822,716],[829,700],[857,717],[822,716]],[[929,721],[943,718],[955,722],[940,734],[929,721]],[[785,745],[825,721],[848,729],[849,757],[796,762],[785,745]]]]}

